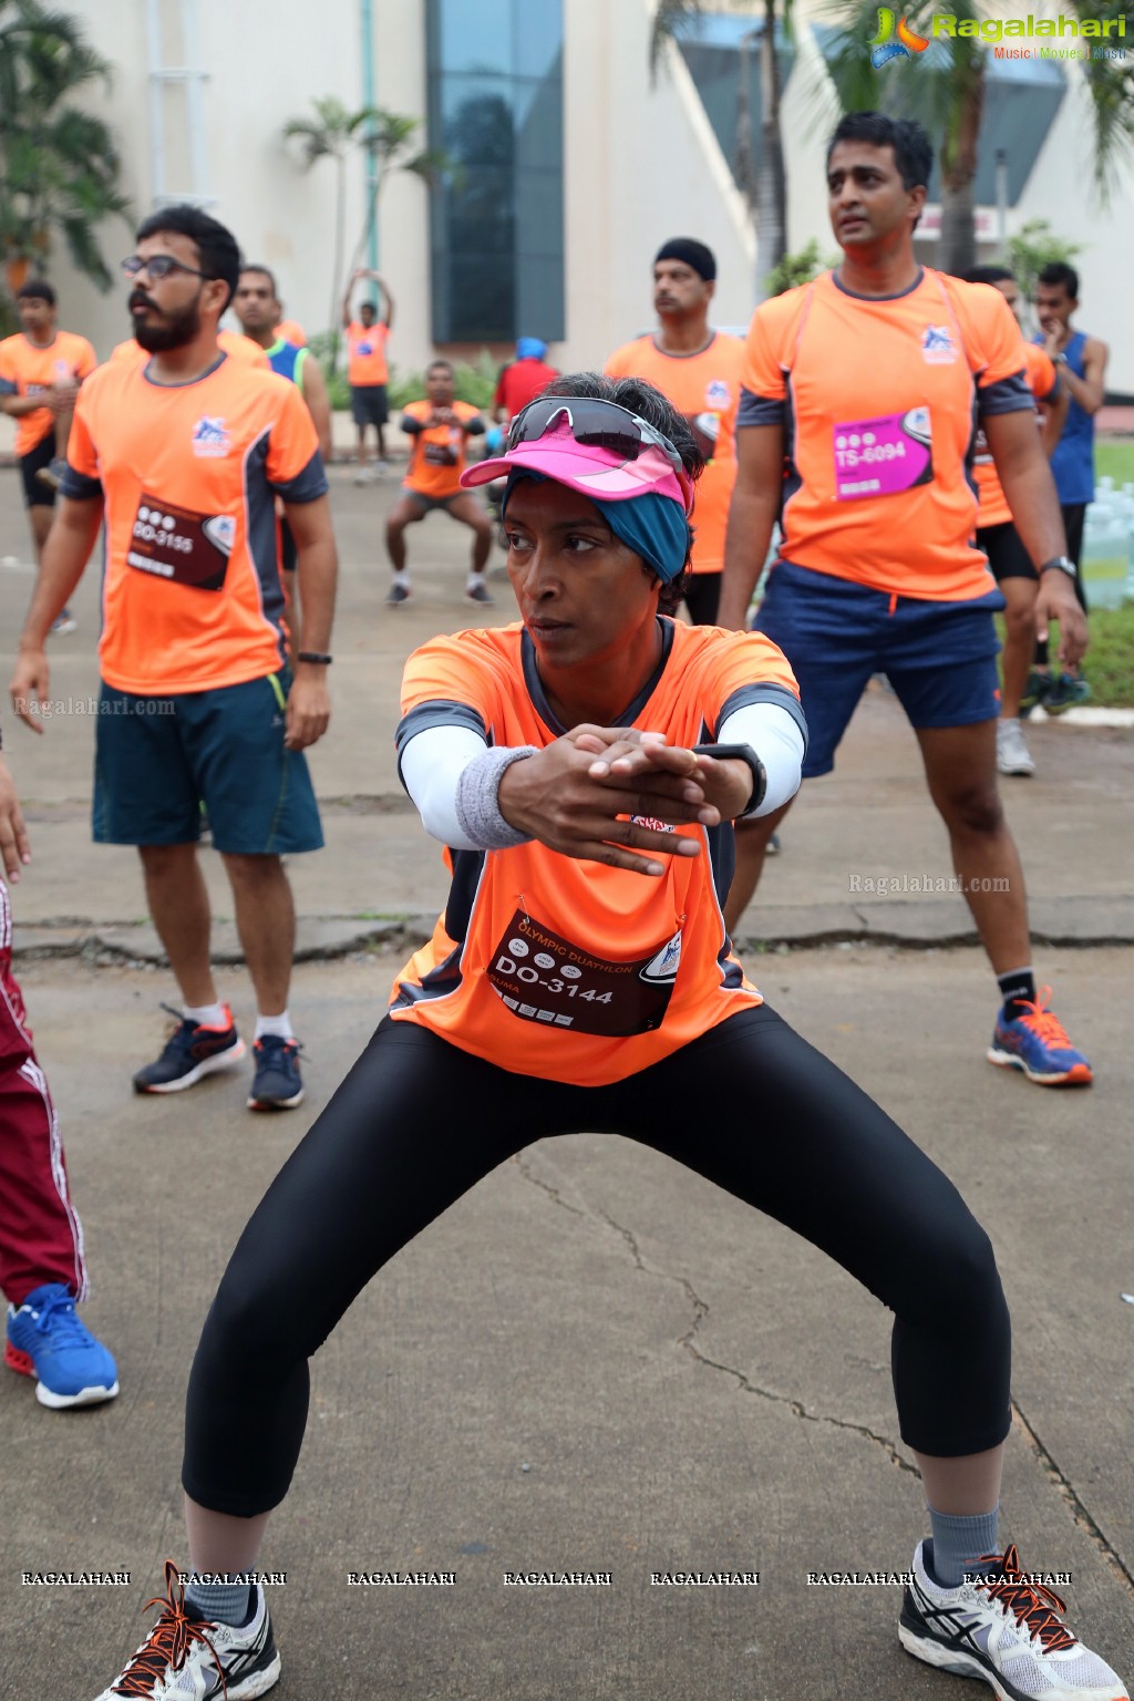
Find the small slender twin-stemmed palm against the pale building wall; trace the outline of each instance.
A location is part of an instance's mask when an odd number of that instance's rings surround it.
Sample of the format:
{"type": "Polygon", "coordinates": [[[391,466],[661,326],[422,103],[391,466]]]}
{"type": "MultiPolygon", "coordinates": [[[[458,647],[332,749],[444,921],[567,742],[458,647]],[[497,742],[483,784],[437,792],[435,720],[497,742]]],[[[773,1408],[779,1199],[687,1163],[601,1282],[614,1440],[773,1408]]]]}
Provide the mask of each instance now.
{"type": "Polygon", "coordinates": [[[332,277],[332,369],[338,357],[338,321],[343,293],[345,243],[347,243],[347,160],[354,153],[364,153],[371,162],[369,194],[366,221],[359,236],[350,272],[359,264],[377,219],[377,197],[389,172],[411,172],[415,177],[434,184],[449,167],[449,160],[437,148],[418,148],[410,153],[413,138],[422,128],[418,117],[401,117],[384,107],[359,107],[350,111],[335,95],[315,100],[315,119],[294,117],[284,124],[284,136],[299,143],[304,170],[318,160],[335,162],[335,245],[332,277]]]}

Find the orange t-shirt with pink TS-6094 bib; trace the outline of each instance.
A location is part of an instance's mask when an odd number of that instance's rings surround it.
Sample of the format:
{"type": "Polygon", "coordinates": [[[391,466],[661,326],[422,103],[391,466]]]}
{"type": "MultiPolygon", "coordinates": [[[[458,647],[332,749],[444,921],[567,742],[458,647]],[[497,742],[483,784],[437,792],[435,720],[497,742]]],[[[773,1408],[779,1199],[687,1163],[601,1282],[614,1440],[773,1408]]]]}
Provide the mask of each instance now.
{"type": "Polygon", "coordinates": [[[923,269],[899,296],[831,272],[751,320],[738,427],[780,425],[780,555],[901,597],[993,590],[974,544],[976,425],[1030,408],[1020,327],[986,284],[923,269]]]}

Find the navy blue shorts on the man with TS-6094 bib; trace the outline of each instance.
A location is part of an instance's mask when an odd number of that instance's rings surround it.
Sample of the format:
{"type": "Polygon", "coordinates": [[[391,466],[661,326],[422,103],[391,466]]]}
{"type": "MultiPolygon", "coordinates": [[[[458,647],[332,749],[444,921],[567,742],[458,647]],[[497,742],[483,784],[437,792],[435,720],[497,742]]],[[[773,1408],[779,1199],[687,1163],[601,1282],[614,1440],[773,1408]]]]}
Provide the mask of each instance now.
{"type": "Polygon", "coordinates": [[[753,626],[777,643],[808,716],[804,779],[830,774],[874,674],[886,674],[911,726],[969,726],[1000,714],[1000,590],[967,602],[891,597],[848,578],[775,561],[753,626]]]}

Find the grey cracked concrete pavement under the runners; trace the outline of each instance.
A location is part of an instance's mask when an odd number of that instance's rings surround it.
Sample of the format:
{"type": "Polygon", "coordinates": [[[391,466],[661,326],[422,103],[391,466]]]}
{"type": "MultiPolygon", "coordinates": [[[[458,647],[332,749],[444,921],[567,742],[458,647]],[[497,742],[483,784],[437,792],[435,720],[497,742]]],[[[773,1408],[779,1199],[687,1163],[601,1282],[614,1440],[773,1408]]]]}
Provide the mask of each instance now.
{"type": "MultiPolygon", "coordinates": [[[[141,1638],[162,1558],[184,1560],[184,1385],[219,1272],[444,895],[391,735],[405,651],[468,624],[464,532],[442,515],[417,527],[415,602],[384,611],[391,493],[335,473],[337,720],[315,754],[328,849],[294,859],[292,874],[304,941],[342,954],[296,975],[308,1102],[292,1116],[243,1109],[247,1065],[168,1102],[131,1095],[173,988],[148,963],[133,852],[88,842],[90,716],[58,714],[32,742],[3,714],[36,857],[14,893],[19,973],[87,1230],[87,1317],[122,1381],[112,1405],[56,1415],[27,1381],[0,1376],[5,1701],[92,1698],[141,1638]],[[398,949],[359,949],[379,927],[396,929],[398,949]],[[20,1580],[92,1568],[131,1582],[20,1580]]],[[[0,558],[26,560],[22,524],[15,478],[0,473],[0,558]]],[[[7,668],[31,577],[0,568],[0,585],[7,668]]],[[[503,619],[507,582],[493,587],[503,619]]],[[[73,706],[95,692],[94,590],[92,577],[80,631],[53,645],[54,689],[73,706]]],[[[1015,782],[1008,805],[1040,930],[1129,942],[1131,737],[1049,725],[1032,745],[1040,774],[1015,782]]],[[[881,692],[784,837],[743,930],[753,976],[947,1169],[993,1235],[1015,1322],[1003,1534],[1025,1565],[1073,1573],[1073,1626],[1129,1679],[1129,951],[1037,949],[1097,1065],[1090,1092],[1044,1094],[984,1063],[993,990],[983,956],[955,946],[966,912],[935,888],[877,891],[879,879],[949,876],[916,748],[881,692]]],[[[223,987],[250,1019],[243,968],[226,968],[223,987]]],[[[750,1116],[757,1138],[791,1138],[758,1106],[750,1116]]],[[[921,1527],[877,1303],[649,1152],[593,1135],[539,1141],[406,1249],[315,1361],[296,1487],[262,1555],[287,1577],[272,1594],[275,1692],[945,1701],[967,1691],[901,1653],[896,1589],[808,1584],[809,1572],[903,1570],[921,1527]],[[349,1585],[360,1570],[456,1582],[349,1585]],[[525,1570],[612,1580],[503,1584],[525,1570]],[[655,1587],[655,1570],[758,1572],[760,1584],[655,1587]]]]}

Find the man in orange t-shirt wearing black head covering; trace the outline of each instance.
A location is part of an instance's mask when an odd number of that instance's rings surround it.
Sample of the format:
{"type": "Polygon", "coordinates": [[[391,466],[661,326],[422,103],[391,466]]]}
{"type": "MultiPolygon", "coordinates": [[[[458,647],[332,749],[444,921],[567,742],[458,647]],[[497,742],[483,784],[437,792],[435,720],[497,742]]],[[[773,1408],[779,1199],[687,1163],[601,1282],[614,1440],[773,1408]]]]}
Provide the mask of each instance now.
{"type": "Polygon", "coordinates": [[[685,607],[695,626],[716,626],[728,505],[736,483],[736,408],[745,345],[709,325],[716,259],[704,242],[675,236],[653,262],[658,330],[615,349],[612,378],[644,378],[685,415],[706,458],[697,483],[692,578],[685,607]]]}

